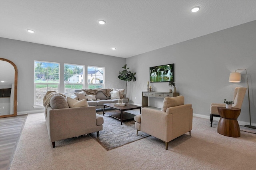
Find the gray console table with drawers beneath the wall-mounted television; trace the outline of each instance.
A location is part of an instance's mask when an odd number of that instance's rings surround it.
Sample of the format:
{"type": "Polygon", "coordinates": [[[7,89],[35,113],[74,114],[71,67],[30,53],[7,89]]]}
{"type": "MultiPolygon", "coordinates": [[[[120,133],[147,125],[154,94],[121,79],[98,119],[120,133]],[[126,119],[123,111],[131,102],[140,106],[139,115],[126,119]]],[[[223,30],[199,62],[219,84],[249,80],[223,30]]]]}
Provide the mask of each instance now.
{"type": "Polygon", "coordinates": [[[169,92],[157,92],[157,91],[142,91],[142,107],[148,107],[148,99],[149,97],[157,97],[163,98],[164,97],[176,97],[179,96],[180,93],[169,93],[169,92]]]}

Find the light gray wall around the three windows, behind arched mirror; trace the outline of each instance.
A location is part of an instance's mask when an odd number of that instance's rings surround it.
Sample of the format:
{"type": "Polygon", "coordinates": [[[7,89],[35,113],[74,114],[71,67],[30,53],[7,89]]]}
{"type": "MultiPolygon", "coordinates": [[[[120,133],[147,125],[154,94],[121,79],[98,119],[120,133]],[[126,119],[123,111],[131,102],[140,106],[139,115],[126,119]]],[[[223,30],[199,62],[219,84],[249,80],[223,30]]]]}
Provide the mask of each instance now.
{"type": "MultiPolygon", "coordinates": [[[[85,72],[87,72],[88,65],[105,67],[105,88],[125,88],[125,82],[117,78],[118,72],[126,63],[125,58],[6,38],[0,38],[0,57],[14,62],[18,68],[18,114],[42,111],[42,108],[34,109],[33,107],[34,60],[60,63],[60,82],[63,82],[64,63],[85,65],[85,72]]],[[[63,86],[60,84],[60,93],[63,93],[63,86]]]]}

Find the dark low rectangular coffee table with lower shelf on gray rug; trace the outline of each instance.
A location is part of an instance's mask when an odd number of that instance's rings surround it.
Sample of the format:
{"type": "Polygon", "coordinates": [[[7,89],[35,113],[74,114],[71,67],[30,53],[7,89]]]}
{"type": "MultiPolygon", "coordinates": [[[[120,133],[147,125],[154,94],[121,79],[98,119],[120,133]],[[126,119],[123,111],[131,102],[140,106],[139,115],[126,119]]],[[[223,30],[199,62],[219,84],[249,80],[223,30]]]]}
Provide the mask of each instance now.
{"type": "Polygon", "coordinates": [[[115,119],[118,119],[119,121],[121,121],[121,125],[123,123],[123,121],[127,121],[127,120],[132,120],[134,119],[134,115],[130,114],[130,113],[123,113],[124,111],[129,111],[129,110],[134,110],[134,109],[140,109],[140,113],[141,113],[141,106],[136,106],[136,105],[131,105],[131,104],[126,104],[125,106],[115,106],[115,103],[105,103],[103,104],[103,116],[104,114],[109,115],[115,119]],[[105,113],[105,107],[110,107],[112,109],[115,109],[116,111],[108,111],[105,113]],[[121,111],[121,113],[120,113],[121,111]]]}

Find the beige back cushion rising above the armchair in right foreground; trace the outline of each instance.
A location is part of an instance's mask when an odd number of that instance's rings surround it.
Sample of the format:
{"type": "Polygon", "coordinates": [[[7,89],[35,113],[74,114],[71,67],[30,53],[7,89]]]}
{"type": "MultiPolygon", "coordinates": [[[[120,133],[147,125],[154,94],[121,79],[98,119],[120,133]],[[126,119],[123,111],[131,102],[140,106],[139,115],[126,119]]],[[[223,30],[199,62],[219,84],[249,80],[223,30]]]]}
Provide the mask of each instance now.
{"type": "Polygon", "coordinates": [[[163,107],[161,111],[166,112],[169,107],[184,105],[184,96],[164,97],[163,107]]]}

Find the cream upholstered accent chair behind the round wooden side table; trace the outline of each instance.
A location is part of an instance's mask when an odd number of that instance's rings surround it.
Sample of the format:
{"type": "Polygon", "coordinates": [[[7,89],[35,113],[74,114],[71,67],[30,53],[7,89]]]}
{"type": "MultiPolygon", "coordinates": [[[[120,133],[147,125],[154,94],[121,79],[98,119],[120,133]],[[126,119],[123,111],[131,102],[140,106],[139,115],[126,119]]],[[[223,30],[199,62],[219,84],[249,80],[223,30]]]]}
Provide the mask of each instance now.
{"type": "MultiPolygon", "coordinates": [[[[246,93],[246,87],[236,87],[234,90],[234,96],[232,101],[234,101],[234,104],[232,104],[232,107],[241,109],[242,103],[244,100],[244,95],[246,93]]],[[[211,121],[211,127],[212,127],[212,119],[213,117],[220,117],[218,113],[218,107],[225,107],[225,103],[211,103],[210,105],[210,121],[211,121]]]]}

